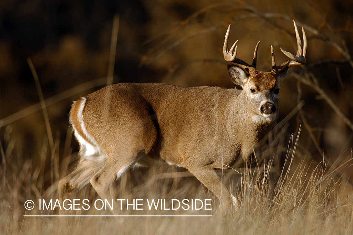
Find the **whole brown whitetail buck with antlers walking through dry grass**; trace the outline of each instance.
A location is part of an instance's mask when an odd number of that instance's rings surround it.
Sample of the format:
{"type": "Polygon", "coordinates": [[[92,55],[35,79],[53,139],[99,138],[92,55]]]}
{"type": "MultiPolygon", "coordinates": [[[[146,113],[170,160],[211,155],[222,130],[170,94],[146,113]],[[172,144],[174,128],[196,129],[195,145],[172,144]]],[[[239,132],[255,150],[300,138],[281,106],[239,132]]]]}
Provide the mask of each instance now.
{"type": "MultiPolygon", "coordinates": [[[[182,87],[167,84],[121,83],[104,87],[72,105],[70,122],[80,145],[76,169],[59,182],[59,199],[89,182],[102,199],[114,199],[110,187],[135,164],[150,165],[162,158],[185,167],[227,208],[231,197],[215,169],[235,161],[249,161],[256,144],[273,128],[280,105],[280,82],[289,67],[305,64],[295,25],[298,51],[291,60],[275,64],[271,46],[271,72],[258,72],[255,47],[252,64],[236,58],[237,42],[223,46],[229,78],[243,89],[182,87]],[[152,161],[151,161],[152,160],[152,161]]],[[[238,162],[237,161],[237,162],[238,162]]],[[[118,211],[112,210],[113,214],[118,211]]]]}

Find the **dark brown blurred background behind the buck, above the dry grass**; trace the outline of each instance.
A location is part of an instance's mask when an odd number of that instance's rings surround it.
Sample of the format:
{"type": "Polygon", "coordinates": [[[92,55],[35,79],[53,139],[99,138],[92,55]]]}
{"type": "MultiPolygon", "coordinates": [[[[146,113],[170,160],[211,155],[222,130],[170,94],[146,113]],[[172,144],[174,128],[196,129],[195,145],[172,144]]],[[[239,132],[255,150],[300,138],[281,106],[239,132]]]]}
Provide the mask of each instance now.
{"type": "MultiPolygon", "coordinates": [[[[256,43],[261,41],[257,68],[270,71],[270,45],[277,64],[287,60],[280,47],[296,54],[295,19],[306,31],[307,63],[290,68],[281,83],[279,121],[301,100],[305,104],[288,120],[280,137],[287,147],[301,125],[299,162],[318,164],[324,159],[328,166],[339,166],[352,158],[353,1],[3,0],[2,175],[6,171],[10,174],[11,162],[23,166],[29,160],[30,172],[40,159],[47,159],[40,166],[44,174],[55,166],[54,154],[58,165],[68,156],[72,156],[70,162],[75,160],[78,144],[72,138],[68,112],[73,100],[106,84],[115,15],[119,15],[119,31],[114,83],[225,88],[235,87],[228,79],[222,55],[229,24],[229,42],[239,39],[237,57],[250,63],[256,43]],[[46,100],[50,131],[28,58],[46,100]]],[[[283,156],[280,158],[283,167],[283,156]]],[[[353,169],[349,165],[351,162],[340,169],[340,176],[351,184],[353,169]]],[[[56,171],[61,171],[60,167],[56,171]]]]}

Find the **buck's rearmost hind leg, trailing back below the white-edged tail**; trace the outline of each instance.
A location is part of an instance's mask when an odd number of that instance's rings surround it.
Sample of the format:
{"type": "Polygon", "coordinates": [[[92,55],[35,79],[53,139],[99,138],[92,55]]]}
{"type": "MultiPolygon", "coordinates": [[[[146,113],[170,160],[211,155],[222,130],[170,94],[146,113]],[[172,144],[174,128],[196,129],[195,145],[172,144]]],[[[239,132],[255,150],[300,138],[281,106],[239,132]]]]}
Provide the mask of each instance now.
{"type": "MultiPolygon", "coordinates": [[[[64,200],[72,199],[82,187],[87,185],[92,178],[103,166],[104,162],[101,159],[84,159],[79,162],[76,169],[67,177],[59,181],[59,202],[63,205],[64,200]]],[[[60,210],[60,215],[64,212],[60,210]]]]}

